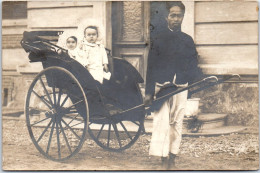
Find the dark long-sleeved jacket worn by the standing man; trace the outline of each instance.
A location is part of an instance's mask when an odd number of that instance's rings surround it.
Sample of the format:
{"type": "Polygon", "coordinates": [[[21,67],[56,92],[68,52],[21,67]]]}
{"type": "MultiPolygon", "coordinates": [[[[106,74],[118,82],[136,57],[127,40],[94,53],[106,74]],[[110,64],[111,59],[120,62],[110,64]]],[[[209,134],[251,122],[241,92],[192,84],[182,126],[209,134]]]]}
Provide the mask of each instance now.
{"type": "Polygon", "coordinates": [[[153,95],[155,82],[193,83],[200,76],[198,53],[193,39],[181,32],[163,30],[153,37],[148,56],[146,94],[153,95]]]}

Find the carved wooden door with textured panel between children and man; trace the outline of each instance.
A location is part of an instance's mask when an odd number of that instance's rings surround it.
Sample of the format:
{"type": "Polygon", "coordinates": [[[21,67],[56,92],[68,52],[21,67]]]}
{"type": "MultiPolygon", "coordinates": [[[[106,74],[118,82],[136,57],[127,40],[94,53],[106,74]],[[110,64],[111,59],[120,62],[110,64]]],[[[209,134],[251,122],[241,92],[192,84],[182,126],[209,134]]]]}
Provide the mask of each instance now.
{"type": "Polygon", "coordinates": [[[149,2],[112,2],[112,53],[130,62],[145,79],[149,50],[149,2]]]}

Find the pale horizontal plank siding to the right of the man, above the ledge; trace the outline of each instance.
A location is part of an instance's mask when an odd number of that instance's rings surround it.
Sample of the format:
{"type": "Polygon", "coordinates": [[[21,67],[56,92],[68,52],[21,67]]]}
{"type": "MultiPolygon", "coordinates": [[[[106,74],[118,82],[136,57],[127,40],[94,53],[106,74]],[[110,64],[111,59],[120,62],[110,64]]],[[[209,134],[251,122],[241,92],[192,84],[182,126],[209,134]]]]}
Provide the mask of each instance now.
{"type": "Polygon", "coordinates": [[[258,4],[196,1],[195,42],[207,74],[258,74],[258,4]]]}

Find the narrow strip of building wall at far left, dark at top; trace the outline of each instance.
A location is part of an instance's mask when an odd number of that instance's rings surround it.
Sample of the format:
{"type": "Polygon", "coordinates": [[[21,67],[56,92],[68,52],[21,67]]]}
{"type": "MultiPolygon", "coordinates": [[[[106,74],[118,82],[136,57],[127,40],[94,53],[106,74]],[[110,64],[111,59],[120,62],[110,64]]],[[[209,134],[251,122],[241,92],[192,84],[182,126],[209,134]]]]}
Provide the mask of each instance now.
{"type": "Polygon", "coordinates": [[[15,80],[20,76],[16,67],[28,63],[20,45],[23,31],[27,29],[27,3],[4,2],[2,7],[2,106],[14,108],[15,80]]]}

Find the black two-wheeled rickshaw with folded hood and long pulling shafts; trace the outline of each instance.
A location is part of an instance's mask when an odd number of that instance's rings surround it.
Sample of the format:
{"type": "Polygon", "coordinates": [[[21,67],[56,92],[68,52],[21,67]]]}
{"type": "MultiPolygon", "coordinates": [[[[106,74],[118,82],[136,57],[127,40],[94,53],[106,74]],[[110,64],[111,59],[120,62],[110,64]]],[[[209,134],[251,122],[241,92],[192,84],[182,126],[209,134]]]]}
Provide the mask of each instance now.
{"type": "MultiPolygon", "coordinates": [[[[30,84],[25,102],[26,124],[33,144],[54,161],[64,161],[78,153],[87,132],[106,150],[117,152],[131,147],[145,130],[144,119],[149,110],[140,90],[143,78],[130,63],[111,56],[107,50],[112,75],[100,84],[66,49],[55,44],[61,33],[25,31],[21,40],[30,62],[43,66],[30,84]]],[[[167,86],[157,92],[153,103],[184,90],[192,94],[235,76],[221,80],[210,76],[179,89],[167,86]]]]}

